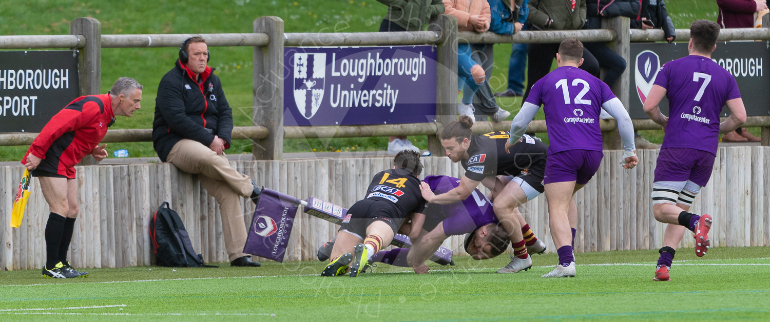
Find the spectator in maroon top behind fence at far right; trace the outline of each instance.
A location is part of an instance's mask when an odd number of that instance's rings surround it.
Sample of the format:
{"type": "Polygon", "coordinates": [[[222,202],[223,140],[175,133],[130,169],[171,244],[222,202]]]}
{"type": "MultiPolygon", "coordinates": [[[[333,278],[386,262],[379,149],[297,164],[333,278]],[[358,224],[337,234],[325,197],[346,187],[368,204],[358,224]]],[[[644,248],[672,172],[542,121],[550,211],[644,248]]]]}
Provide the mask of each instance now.
{"type": "MultiPolygon", "coordinates": [[[[754,28],[755,15],[767,9],[766,0],[717,0],[719,15],[717,23],[721,28],[754,28]]],[[[737,128],[722,135],[723,142],[762,141],[748,133],[746,128],[737,128]]]]}

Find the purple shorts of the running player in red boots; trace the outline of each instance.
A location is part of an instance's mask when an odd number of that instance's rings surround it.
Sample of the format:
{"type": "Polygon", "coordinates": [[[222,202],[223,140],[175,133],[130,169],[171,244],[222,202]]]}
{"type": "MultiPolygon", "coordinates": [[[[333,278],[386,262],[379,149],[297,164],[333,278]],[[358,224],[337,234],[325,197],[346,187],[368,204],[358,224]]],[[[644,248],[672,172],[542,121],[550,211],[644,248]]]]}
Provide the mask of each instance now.
{"type": "Polygon", "coordinates": [[[694,148],[664,148],[658,154],[655,182],[692,181],[701,187],[708,184],[715,155],[694,148]]]}

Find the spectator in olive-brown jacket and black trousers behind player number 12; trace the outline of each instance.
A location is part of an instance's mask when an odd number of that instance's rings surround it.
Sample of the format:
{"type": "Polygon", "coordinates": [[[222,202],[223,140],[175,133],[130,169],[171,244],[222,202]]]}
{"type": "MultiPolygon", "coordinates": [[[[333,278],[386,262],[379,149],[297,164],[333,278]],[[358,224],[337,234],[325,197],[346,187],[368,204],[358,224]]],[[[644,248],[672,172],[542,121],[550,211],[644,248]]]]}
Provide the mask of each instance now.
{"type": "MultiPolygon", "coordinates": [[[[579,30],[586,18],[586,0],[530,0],[527,23],[530,30],[579,30]]],[[[551,71],[551,64],[559,51],[559,44],[530,44],[528,46],[529,66],[527,67],[527,91],[524,99],[536,81],[551,71]]],[[[583,64],[580,68],[594,77],[599,77],[599,63],[588,49],[583,48],[583,64]]]]}

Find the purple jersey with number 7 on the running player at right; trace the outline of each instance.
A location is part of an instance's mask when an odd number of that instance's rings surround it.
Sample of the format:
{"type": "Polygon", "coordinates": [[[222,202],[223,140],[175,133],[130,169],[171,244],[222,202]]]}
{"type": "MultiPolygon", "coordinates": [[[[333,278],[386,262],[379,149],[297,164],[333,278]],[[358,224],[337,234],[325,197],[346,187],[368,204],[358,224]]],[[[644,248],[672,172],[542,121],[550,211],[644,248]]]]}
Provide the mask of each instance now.
{"type": "Polygon", "coordinates": [[[709,58],[689,55],[668,61],[654,85],[667,90],[668,124],[661,148],[694,148],[717,153],[719,112],[740,98],[735,78],[709,58]]]}

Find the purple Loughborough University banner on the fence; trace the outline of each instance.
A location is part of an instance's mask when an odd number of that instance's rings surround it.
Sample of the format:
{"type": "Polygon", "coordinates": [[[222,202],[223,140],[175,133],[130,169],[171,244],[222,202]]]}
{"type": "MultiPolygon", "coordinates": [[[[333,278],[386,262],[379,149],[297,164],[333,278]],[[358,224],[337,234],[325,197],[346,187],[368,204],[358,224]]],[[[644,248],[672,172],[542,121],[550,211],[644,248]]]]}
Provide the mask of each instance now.
{"type": "Polygon", "coordinates": [[[435,121],[436,48],[284,48],[283,124],[435,121]]]}

